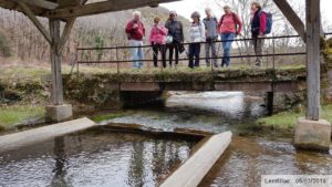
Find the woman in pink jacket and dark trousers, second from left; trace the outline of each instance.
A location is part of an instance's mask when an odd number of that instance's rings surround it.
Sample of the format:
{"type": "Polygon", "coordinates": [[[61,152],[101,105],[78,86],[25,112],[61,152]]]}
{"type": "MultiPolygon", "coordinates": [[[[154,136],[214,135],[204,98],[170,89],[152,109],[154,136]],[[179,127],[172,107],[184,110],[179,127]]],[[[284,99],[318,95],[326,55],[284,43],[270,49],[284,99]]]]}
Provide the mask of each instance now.
{"type": "Polygon", "coordinates": [[[160,18],[154,19],[154,25],[151,30],[149,42],[154,52],[154,65],[158,66],[158,52],[162,53],[163,66],[166,67],[166,35],[167,29],[160,24],[160,18]]]}

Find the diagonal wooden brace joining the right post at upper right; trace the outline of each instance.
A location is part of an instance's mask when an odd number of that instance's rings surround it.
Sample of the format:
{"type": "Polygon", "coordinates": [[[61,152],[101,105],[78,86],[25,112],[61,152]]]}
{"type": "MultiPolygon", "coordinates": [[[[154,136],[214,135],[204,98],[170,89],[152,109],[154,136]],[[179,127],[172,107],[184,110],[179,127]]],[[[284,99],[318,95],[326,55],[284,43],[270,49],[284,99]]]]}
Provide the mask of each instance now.
{"type": "Polygon", "coordinates": [[[295,29],[301,39],[305,42],[305,28],[304,23],[298,15],[298,13],[292,9],[292,7],[288,3],[287,0],[273,0],[287,20],[291,23],[291,25],[295,29]]]}

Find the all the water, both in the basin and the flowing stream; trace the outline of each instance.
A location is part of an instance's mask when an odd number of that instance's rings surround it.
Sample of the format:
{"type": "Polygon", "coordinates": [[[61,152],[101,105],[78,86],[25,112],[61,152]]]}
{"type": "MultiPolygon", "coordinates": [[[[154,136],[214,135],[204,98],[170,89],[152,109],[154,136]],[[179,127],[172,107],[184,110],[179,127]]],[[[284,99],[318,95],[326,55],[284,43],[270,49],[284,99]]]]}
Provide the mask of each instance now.
{"type": "MultiPolygon", "coordinates": [[[[300,152],[292,133],[255,127],[266,113],[262,103],[243,93],[173,93],[165,108],[129,111],[103,124],[232,131],[230,147],[200,187],[257,187],[261,175],[332,175],[332,153],[300,152]]],[[[155,186],[188,158],[195,142],[97,131],[55,139],[64,148],[53,144],[0,155],[0,186],[155,186]]]]}

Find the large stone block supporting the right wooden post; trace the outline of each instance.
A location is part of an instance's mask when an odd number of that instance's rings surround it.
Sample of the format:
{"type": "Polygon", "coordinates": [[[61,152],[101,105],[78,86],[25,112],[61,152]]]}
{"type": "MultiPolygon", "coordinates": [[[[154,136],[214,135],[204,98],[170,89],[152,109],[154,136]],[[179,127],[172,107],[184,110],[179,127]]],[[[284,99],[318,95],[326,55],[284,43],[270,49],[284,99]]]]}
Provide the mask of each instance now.
{"type": "Polygon", "coordinates": [[[329,150],[331,145],[331,124],[325,121],[298,120],[294,144],[298,148],[329,150]]]}

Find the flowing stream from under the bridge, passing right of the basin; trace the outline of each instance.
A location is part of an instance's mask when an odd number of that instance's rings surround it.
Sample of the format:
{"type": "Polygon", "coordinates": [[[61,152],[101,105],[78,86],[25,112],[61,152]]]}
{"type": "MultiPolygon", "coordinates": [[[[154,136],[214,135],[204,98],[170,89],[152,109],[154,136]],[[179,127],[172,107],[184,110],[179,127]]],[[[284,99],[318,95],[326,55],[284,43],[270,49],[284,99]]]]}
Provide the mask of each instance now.
{"type": "Polygon", "coordinates": [[[255,121],[266,114],[262,103],[262,98],[243,93],[176,94],[164,111],[136,111],[113,122],[136,122],[167,131],[176,127],[215,133],[232,131],[230,147],[200,187],[257,187],[261,175],[332,175],[332,153],[297,150],[292,133],[255,127],[255,121]]]}

